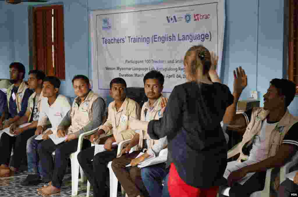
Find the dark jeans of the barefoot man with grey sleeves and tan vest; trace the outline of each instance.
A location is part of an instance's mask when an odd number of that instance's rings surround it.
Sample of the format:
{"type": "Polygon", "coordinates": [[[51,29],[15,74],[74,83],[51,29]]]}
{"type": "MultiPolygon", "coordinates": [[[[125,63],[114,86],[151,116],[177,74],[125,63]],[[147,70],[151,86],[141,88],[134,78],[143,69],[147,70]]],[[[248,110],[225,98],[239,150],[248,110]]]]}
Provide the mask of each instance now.
{"type": "MultiPolygon", "coordinates": [[[[55,145],[51,139],[38,144],[38,155],[41,162],[45,182],[52,181],[52,185],[61,188],[63,177],[66,173],[69,155],[77,151],[78,139],[62,142],[55,145]],[[55,163],[52,153],[55,151],[55,163]]],[[[91,145],[89,140],[83,140],[82,149],[91,145]]]]}

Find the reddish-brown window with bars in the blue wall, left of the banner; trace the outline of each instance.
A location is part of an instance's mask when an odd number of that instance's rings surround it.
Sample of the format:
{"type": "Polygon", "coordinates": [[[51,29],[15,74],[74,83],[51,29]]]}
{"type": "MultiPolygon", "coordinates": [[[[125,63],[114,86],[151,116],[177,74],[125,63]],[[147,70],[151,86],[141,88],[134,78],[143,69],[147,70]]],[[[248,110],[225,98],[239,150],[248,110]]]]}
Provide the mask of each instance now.
{"type": "Polygon", "coordinates": [[[65,79],[63,5],[33,8],[33,65],[65,79]]]}

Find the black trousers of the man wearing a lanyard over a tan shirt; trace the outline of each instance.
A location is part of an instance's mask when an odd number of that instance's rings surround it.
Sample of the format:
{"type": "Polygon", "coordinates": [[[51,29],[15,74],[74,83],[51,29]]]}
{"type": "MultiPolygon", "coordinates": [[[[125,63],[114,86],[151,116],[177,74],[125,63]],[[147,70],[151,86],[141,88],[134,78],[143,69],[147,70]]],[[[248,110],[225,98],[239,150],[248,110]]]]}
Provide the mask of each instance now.
{"type": "Polygon", "coordinates": [[[94,197],[105,196],[105,173],[107,171],[108,162],[117,157],[117,148],[112,151],[104,151],[94,156],[95,146],[81,151],[77,155],[77,160],[90,184],[93,186],[94,197]],[[91,161],[93,160],[93,161],[91,161]]]}

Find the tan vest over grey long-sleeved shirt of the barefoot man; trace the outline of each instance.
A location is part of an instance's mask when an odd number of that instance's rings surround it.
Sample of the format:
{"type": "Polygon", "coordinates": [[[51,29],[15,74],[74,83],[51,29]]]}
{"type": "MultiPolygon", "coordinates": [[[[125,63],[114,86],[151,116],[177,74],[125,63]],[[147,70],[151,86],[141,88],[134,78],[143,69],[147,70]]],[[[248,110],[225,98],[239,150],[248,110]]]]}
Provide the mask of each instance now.
{"type": "Polygon", "coordinates": [[[88,96],[80,104],[80,106],[76,102],[77,99],[80,98],[75,98],[74,102],[72,103],[72,109],[70,113],[72,124],[67,129],[68,132],[75,133],[92,121],[92,105],[98,97],[98,95],[94,94],[93,91],[90,90],[88,96]]]}

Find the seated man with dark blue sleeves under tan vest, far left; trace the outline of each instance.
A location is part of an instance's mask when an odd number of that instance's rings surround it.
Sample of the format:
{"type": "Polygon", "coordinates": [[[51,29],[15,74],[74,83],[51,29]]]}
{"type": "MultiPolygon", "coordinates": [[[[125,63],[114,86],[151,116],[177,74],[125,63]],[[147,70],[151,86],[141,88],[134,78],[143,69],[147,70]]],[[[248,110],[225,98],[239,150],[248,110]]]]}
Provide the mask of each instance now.
{"type": "MultiPolygon", "coordinates": [[[[19,62],[12,62],[9,68],[10,79],[13,85],[7,89],[9,119],[5,121],[2,129],[9,127],[11,123],[18,121],[18,119],[25,115],[28,99],[33,93],[23,81],[25,66],[19,62]]],[[[5,113],[2,116],[5,116],[5,113]]]]}

